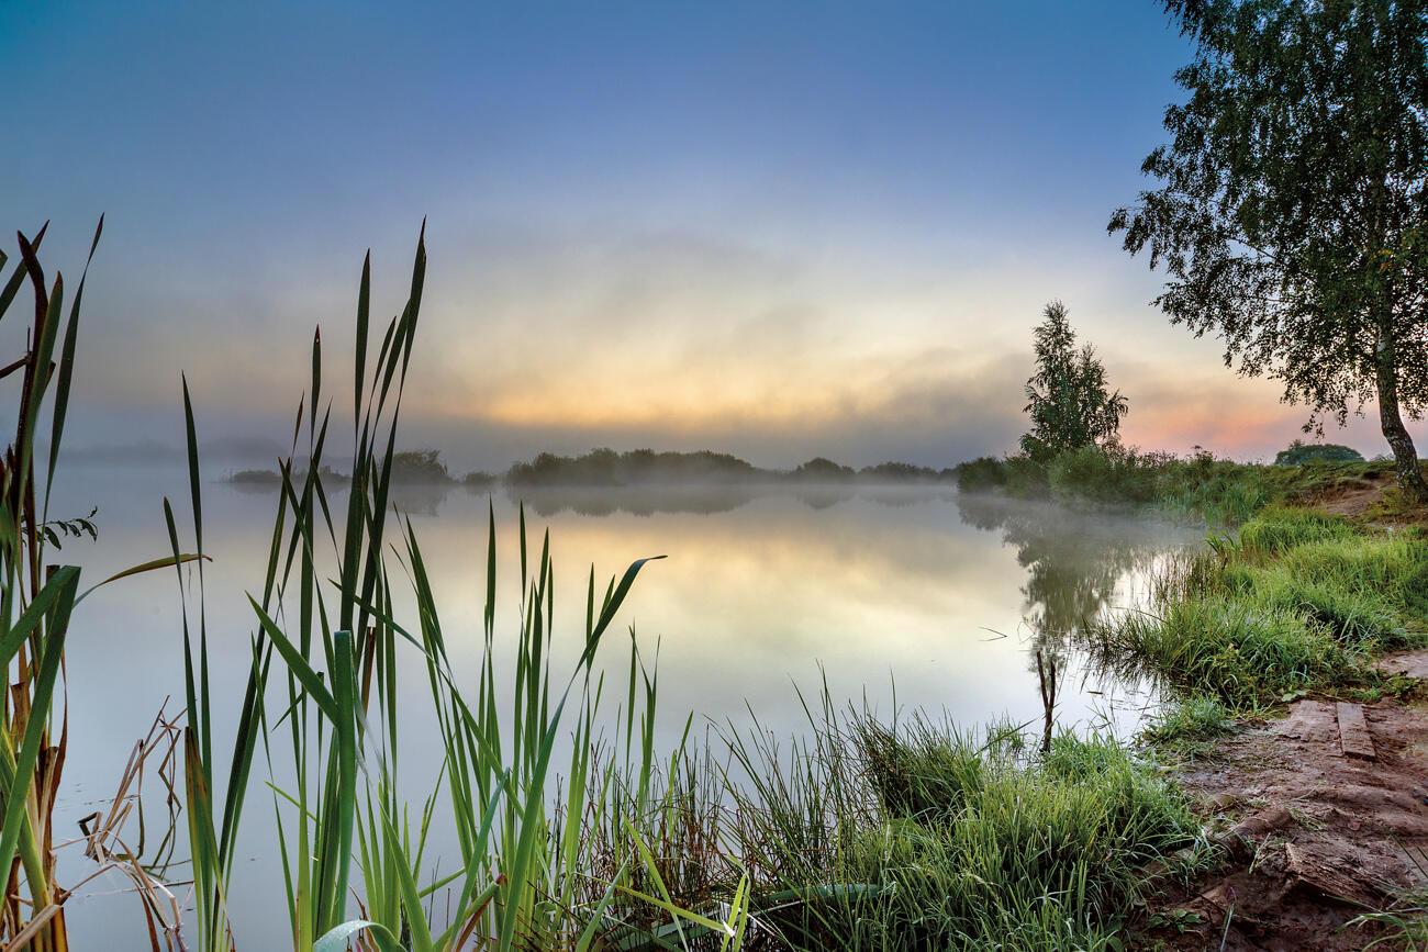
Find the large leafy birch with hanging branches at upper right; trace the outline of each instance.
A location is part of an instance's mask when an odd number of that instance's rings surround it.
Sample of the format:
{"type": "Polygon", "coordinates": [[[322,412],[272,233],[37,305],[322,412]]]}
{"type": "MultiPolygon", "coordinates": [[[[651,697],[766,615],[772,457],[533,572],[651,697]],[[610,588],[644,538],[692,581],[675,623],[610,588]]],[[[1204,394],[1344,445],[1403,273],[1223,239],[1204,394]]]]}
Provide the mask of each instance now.
{"type": "Polygon", "coordinates": [[[1428,500],[1404,414],[1428,401],[1428,0],[1168,0],[1162,186],[1111,216],[1168,281],[1155,303],[1225,364],[1284,384],[1305,431],[1377,400],[1398,480],[1428,500]]]}

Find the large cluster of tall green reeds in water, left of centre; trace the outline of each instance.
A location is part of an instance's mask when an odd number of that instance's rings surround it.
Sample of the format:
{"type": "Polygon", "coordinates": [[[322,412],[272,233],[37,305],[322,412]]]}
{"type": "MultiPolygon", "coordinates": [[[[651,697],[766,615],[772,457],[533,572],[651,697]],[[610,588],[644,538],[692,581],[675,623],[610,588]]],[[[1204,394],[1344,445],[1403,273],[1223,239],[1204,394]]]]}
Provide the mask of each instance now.
{"type": "MultiPolygon", "coordinates": [[[[601,679],[594,661],[635,575],[650,559],[631,564],[600,592],[587,579],[583,651],[574,671],[551,668],[554,568],[548,538],[536,555],[524,512],[520,525],[523,599],[514,671],[498,671],[496,564],[491,514],[487,540],[483,661],[474,694],[458,688],[444,631],[410,522],[388,514],[401,394],[420,315],[426,250],[418,241],[407,303],[387,325],[368,374],[370,263],[364,263],[357,307],[354,367],[354,451],[346,518],[334,518],[321,465],[331,407],[323,397],[323,350],[314,337],[311,387],[294,431],[294,454],[281,464],[283,490],[271,534],[261,597],[250,595],[256,625],[248,687],[240,728],[227,755],[226,798],[217,806],[213,754],[207,625],[200,601],[197,624],[184,611],[188,699],[186,731],[187,814],[194,864],[200,942],[204,949],[234,948],[227,913],[234,846],[258,746],[268,765],[278,819],[280,849],[294,949],[364,948],[444,951],[471,948],[591,948],[631,903],[665,909],[698,931],[737,932],[738,913],[715,922],[675,906],[657,862],[641,849],[654,775],[653,722],[640,722],[643,745],[623,762],[597,744],[601,679]],[[321,408],[321,410],[320,410],[321,408]],[[300,458],[296,450],[304,447],[300,458]],[[301,472],[301,475],[294,475],[301,472]],[[390,535],[396,531],[396,535],[390,535]],[[414,602],[408,624],[394,617],[384,550],[400,552],[414,602]],[[328,577],[331,585],[321,585],[328,577]],[[437,742],[438,778],[420,808],[400,798],[400,665],[426,671],[437,742]],[[276,665],[276,667],[274,667],[276,665]],[[271,691],[270,691],[271,688],[271,691]],[[274,704],[270,694],[277,694],[274,704]],[[557,741],[574,732],[570,769],[557,802],[557,741]],[[428,835],[437,811],[456,831],[458,862],[428,862],[428,835]],[[621,869],[590,899],[595,839],[591,816],[607,835],[620,829],[621,869]],[[420,883],[428,883],[426,886],[420,883]],[[645,891],[648,889],[648,892],[645,891]],[[448,899],[433,916],[433,895],[448,899]],[[351,896],[360,896],[353,915],[351,896]]],[[[201,490],[193,407],[186,388],[188,461],[193,474],[193,525],[201,545],[201,490]]],[[[167,507],[170,534],[178,532],[167,507]]],[[[654,679],[631,648],[631,707],[627,735],[638,715],[635,687],[653,718],[654,679]]],[[[674,758],[678,764],[678,756],[674,758]]],[[[613,841],[605,841],[613,842],[613,841]]]]}

